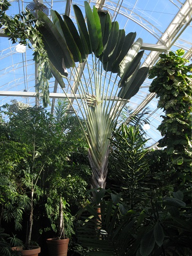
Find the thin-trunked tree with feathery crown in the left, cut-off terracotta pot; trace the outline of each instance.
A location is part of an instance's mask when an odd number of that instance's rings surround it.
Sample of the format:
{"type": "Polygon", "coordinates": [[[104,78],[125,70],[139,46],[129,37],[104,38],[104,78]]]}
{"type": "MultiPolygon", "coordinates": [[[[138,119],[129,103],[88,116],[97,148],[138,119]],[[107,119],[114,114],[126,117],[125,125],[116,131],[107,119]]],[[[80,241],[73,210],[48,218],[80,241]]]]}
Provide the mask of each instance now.
{"type": "MultiPolygon", "coordinates": [[[[40,246],[34,246],[31,243],[31,232],[34,202],[42,194],[38,181],[41,178],[41,173],[47,161],[44,157],[44,151],[48,146],[46,138],[47,136],[51,137],[49,117],[49,114],[40,107],[27,107],[14,112],[10,116],[8,123],[10,137],[13,140],[19,141],[27,151],[22,164],[20,162],[15,164],[17,168],[14,174],[14,182],[17,182],[17,186],[21,188],[21,193],[25,194],[29,201],[28,207],[26,208],[28,211],[28,221],[24,246],[12,248],[12,250],[19,251],[21,255],[37,256],[40,252],[40,246]]],[[[22,213],[24,210],[23,208],[22,213]]],[[[18,211],[18,214],[20,214],[20,211],[18,211]]]]}

